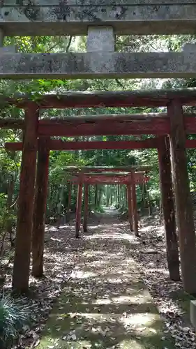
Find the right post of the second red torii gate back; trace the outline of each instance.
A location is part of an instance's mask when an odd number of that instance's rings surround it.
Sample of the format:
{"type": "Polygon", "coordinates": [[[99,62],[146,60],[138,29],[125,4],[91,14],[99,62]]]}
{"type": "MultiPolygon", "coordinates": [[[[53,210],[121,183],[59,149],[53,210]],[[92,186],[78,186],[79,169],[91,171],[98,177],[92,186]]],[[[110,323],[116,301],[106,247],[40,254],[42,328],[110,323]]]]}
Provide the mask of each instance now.
{"type": "Polygon", "coordinates": [[[169,277],[174,281],[179,281],[179,248],[176,235],[174,194],[172,188],[172,172],[168,136],[160,137],[158,140],[158,162],[169,277]]]}

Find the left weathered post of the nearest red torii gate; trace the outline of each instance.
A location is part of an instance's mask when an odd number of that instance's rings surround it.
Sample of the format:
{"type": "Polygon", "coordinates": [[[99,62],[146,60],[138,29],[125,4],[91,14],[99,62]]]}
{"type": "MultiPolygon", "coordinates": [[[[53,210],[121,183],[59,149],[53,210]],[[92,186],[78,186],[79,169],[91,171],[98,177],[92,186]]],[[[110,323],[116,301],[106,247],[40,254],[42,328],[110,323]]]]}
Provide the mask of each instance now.
{"type": "Polygon", "coordinates": [[[24,141],[13,266],[13,289],[17,292],[27,291],[29,287],[38,116],[38,106],[33,103],[29,104],[24,117],[24,141]]]}

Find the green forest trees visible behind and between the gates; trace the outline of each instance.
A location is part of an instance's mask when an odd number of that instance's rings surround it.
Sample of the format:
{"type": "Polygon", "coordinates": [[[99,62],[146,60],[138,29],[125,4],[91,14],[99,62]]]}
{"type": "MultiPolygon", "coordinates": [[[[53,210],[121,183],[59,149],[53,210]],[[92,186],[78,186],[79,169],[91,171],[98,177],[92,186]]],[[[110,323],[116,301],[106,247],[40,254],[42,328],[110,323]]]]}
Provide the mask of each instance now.
{"type": "MultiPolygon", "coordinates": [[[[116,37],[116,51],[150,52],[180,51],[185,43],[195,43],[196,36],[119,36],[116,37]]],[[[85,52],[86,37],[13,37],[6,38],[5,45],[15,45],[17,52],[85,52]]],[[[63,93],[66,91],[114,91],[156,88],[196,87],[196,80],[25,80],[0,82],[0,94],[13,96],[25,93],[38,98],[45,93],[63,93]]],[[[189,108],[190,109],[190,108],[189,108]]],[[[194,107],[192,107],[194,110],[194,107]]],[[[43,110],[40,117],[77,117],[82,114],[121,114],[165,111],[160,108],[88,108],[67,110],[43,110]]],[[[22,118],[22,110],[6,107],[0,111],[0,117],[22,118]]],[[[190,135],[194,138],[194,135],[190,135]]],[[[150,136],[99,136],[64,138],[65,140],[142,140],[150,136]]],[[[0,260],[3,256],[13,258],[15,225],[17,219],[17,198],[20,181],[21,151],[6,151],[5,142],[19,142],[22,132],[0,129],[0,260]]],[[[196,150],[188,149],[188,174],[190,189],[196,189],[196,150]]],[[[151,207],[160,205],[158,154],[156,149],[141,150],[95,150],[95,151],[50,151],[50,172],[47,198],[47,223],[58,221],[65,216],[68,205],[68,172],[66,166],[118,166],[118,165],[151,165],[151,177],[146,188],[137,186],[138,207],[142,205],[144,191],[151,207]]],[[[75,211],[77,191],[73,188],[71,209],[75,211]]],[[[89,202],[91,209],[102,211],[103,206],[114,206],[126,209],[126,190],[118,186],[91,186],[89,202]]],[[[3,266],[4,267],[4,266],[3,266]]],[[[1,276],[1,275],[0,275],[1,276]]],[[[3,278],[3,276],[2,276],[3,278]]],[[[1,309],[0,309],[1,311],[1,309]]],[[[0,314],[1,315],[1,314],[0,314]]],[[[8,348],[8,347],[7,347],[8,348]]],[[[52,347],[51,347],[52,348],[52,347]]]]}

